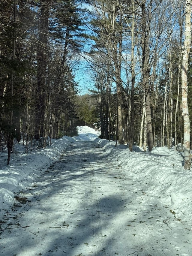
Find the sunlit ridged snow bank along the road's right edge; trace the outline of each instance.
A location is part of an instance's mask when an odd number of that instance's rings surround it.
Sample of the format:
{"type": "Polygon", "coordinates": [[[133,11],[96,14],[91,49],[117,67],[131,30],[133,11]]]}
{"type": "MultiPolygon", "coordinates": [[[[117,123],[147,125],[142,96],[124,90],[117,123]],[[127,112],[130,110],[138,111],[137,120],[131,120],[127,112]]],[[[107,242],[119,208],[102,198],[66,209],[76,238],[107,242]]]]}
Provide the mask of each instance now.
{"type": "Polygon", "coordinates": [[[192,173],[182,166],[183,153],[165,147],[137,153],[114,148],[115,143],[108,140],[97,143],[117,166],[125,166],[128,176],[146,184],[147,193],[161,200],[177,217],[192,222],[192,173]]]}

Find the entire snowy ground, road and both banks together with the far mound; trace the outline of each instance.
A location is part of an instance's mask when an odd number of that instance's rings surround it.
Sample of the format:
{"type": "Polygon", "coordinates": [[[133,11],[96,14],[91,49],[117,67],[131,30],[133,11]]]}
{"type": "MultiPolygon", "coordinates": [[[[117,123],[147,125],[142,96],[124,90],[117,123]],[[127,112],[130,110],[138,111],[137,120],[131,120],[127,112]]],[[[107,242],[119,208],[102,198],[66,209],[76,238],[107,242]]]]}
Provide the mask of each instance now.
{"type": "Polygon", "coordinates": [[[0,152],[0,255],[191,256],[184,154],[115,146],[78,127],[51,146],[0,152]]]}

